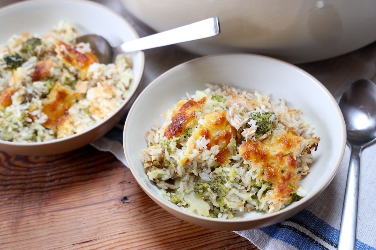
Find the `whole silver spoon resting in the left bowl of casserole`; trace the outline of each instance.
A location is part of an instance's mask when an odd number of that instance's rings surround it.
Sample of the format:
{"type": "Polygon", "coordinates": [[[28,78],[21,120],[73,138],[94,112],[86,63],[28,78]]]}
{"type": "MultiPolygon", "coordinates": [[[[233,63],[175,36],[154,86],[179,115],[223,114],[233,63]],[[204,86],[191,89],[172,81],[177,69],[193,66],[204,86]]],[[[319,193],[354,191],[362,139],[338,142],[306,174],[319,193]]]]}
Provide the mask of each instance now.
{"type": "Polygon", "coordinates": [[[172,30],[131,40],[115,48],[113,48],[105,38],[96,34],[88,34],[77,37],[76,41],[89,43],[99,62],[108,64],[112,63],[118,54],[198,40],[216,36],[219,33],[219,18],[212,17],[199,22],[184,25],[182,27],[174,28],[172,30]]]}

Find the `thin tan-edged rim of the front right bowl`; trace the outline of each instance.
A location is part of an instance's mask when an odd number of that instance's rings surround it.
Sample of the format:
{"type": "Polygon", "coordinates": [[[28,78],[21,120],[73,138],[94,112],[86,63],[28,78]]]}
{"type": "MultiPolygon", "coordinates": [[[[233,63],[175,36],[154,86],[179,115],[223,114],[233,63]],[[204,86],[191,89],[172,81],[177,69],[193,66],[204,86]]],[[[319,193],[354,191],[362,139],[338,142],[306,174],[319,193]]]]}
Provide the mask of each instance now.
{"type": "MultiPolygon", "coordinates": [[[[343,139],[342,139],[342,147],[341,147],[341,151],[340,151],[340,157],[337,159],[335,167],[333,168],[331,174],[328,175],[328,177],[326,178],[326,180],[324,181],[324,183],[321,184],[312,193],[309,193],[308,197],[307,196],[305,197],[303,204],[311,204],[314,201],[314,199],[317,198],[316,196],[318,195],[318,193],[320,193],[324,189],[326,189],[326,187],[331,183],[331,181],[333,180],[335,174],[338,171],[338,168],[340,167],[340,163],[341,163],[341,161],[343,159],[344,152],[345,152],[345,149],[346,149],[346,126],[345,126],[345,122],[344,122],[344,118],[343,118],[341,109],[338,106],[338,103],[334,99],[333,95],[329,92],[329,90],[327,90],[327,88],[320,81],[318,81],[314,76],[312,76],[311,74],[309,74],[305,70],[300,69],[299,67],[295,66],[294,64],[288,63],[286,61],[283,61],[283,60],[280,60],[280,59],[277,59],[277,58],[269,57],[269,56],[266,56],[266,55],[259,55],[259,54],[252,54],[252,53],[241,53],[241,52],[240,53],[237,53],[237,52],[235,52],[235,53],[221,53],[221,54],[206,55],[206,56],[194,58],[192,60],[186,61],[184,63],[178,64],[177,66],[172,67],[171,69],[167,70],[166,72],[162,73],[157,78],[155,78],[138,95],[138,97],[136,98],[135,102],[133,102],[133,104],[132,104],[132,106],[131,106],[128,114],[130,114],[130,113],[133,112],[133,109],[135,109],[135,106],[137,105],[137,103],[139,102],[139,100],[142,98],[142,96],[144,95],[144,93],[146,91],[149,91],[149,89],[152,87],[152,85],[154,85],[156,82],[158,82],[159,79],[164,78],[164,76],[168,75],[171,71],[174,71],[174,70],[176,70],[179,67],[185,66],[186,64],[194,63],[195,61],[206,60],[207,58],[210,58],[210,57],[223,57],[223,56],[224,57],[226,57],[226,56],[261,57],[261,58],[266,58],[268,60],[279,61],[279,63],[285,64],[285,65],[287,65],[289,67],[293,67],[295,70],[300,71],[301,73],[303,73],[306,76],[308,76],[312,80],[312,82],[314,82],[314,84],[318,85],[318,87],[332,100],[335,108],[338,111],[338,114],[340,115],[341,124],[342,124],[342,128],[341,129],[343,130],[343,133],[342,133],[343,139]]],[[[141,188],[144,190],[144,192],[147,193],[147,195],[153,196],[156,199],[162,201],[161,199],[159,199],[158,197],[156,197],[156,195],[151,190],[149,190],[149,188],[146,185],[144,185],[141,180],[139,180],[138,175],[136,175],[135,170],[133,170],[132,164],[129,163],[130,160],[129,160],[128,152],[126,150],[125,143],[124,143],[124,141],[125,141],[125,132],[127,130],[128,124],[131,122],[131,121],[129,121],[128,117],[129,117],[129,115],[127,115],[126,121],[124,123],[124,130],[123,130],[123,150],[124,150],[124,153],[125,153],[125,157],[126,157],[127,163],[129,165],[129,169],[132,172],[132,174],[133,174],[134,178],[136,179],[137,183],[141,186],[141,188]]],[[[176,205],[168,202],[167,200],[165,200],[165,201],[163,200],[162,202],[164,202],[164,204],[166,204],[169,208],[171,208],[172,210],[174,210],[176,213],[183,213],[186,216],[194,218],[194,219],[206,220],[206,221],[211,221],[211,222],[215,222],[215,221],[221,220],[221,222],[223,222],[223,223],[230,223],[230,224],[234,224],[234,223],[238,223],[238,222],[249,222],[249,221],[257,221],[257,220],[261,220],[261,219],[270,219],[270,218],[273,218],[273,217],[279,217],[281,214],[288,213],[288,211],[294,210],[296,207],[302,206],[302,204],[294,203],[294,204],[291,204],[288,207],[285,207],[285,208],[283,208],[283,209],[281,209],[279,211],[276,211],[276,212],[274,212],[272,214],[265,213],[265,214],[261,214],[259,216],[255,216],[255,217],[252,217],[252,218],[240,218],[240,219],[235,219],[235,220],[222,220],[222,219],[218,219],[218,218],[205,217],[205,216],[200,216],[198,214],[194,214],[194,213],[190,213],[190,212],[187,212],[187,211],[183,211],[180,208],[178,208],[176,205]]]]}

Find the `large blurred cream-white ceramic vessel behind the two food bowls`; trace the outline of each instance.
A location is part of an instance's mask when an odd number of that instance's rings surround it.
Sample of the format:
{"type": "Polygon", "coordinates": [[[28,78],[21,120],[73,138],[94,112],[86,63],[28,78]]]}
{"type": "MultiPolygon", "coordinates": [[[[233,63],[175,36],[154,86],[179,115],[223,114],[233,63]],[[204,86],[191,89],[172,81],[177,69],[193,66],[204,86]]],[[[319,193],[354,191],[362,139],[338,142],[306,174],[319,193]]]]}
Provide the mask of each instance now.
{"type": "Polygon", "coordinates": [[[180,44],[200,55],[251,52],[302,63],[341,55],[376,40],[376,1],[120,2],[139,20],[159,32],[218,16],[219,36],[180,44]]]}

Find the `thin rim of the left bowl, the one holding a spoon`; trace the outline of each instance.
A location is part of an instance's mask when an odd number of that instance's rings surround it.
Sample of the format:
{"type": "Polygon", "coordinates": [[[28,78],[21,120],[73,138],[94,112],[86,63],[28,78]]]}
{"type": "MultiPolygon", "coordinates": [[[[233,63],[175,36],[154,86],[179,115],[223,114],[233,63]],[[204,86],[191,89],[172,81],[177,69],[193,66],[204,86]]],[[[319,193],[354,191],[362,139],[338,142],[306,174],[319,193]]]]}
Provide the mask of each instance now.
{"type": "MultiPolygon", "coordinates": [[[[20,1],[20,2],[16,2],[16,3],[12,3],[12,4],[6,5],[4,7],[1,7],[0,8],[0,15],[2,14],[3,11],[6,11],[8,9],[16,9],[17,7],[19,7],[21,5],[42,3],[42,2],[53,2],[53,1],[51,1],[51,0],[26,0],[26,1],[20,1]]],[[[101,8],[101,9],[107,11],[107,12],[111,12],[112,15],[117,16],[122,21],[124,21],[124,23],[126,23],[127,26],[129,26],[130,30],[135,35],[136,39],[139,38],[139,34],[137,33],[136,29],[133,27],[132,24],[130,24],[130,22],[127,19],[125,19],[123,16],[121,16],[120,14],[118,14],[117,12],[112,10],[111,8],[105,6],[101,3],[97,3],[97,2],[94,2],[94,1],[90,1],[90,0],[64,0],[64,2],[89,4],[89,5],[92,5],[92,6],[97,6],[97,7],[101,8]]],[[[133,82],[132,82],[132,84],[135,84],[136,86],[134,87],[133,91],[129,93],[127,98],[123,100],[121,105],[115,111],[113,111],[111,113],[111,115],[109,115],[108,117],[106,117],[105,119],[100,121],[99,123],[95,124],[94,126],[90,127],[87,130],[84,130],[80,133],[76,133],[74,135],[70,135],[70,136],[67,136],[67,137],[64,137],[64,138],[53,139],[51,141],[10,142],[10,141],[0,140],[0,143],[3,144],[3,145],[11,145],[11,146],[17,146],[17,147],[25,147],[25,146],[28,147],[28,146],[35,146],[35,145],[48,145],[48,144],[53,144],[53,143],[56,143],[56,142],[69,140],[71,138],[75,138],[77,136],[83,135],[85,133],[88,133],[91,130],[96,129],[97,127],[101,126],[103,123],[106,123],[106,121],[108,121],[114,114],[117,114],[121,109],[124,108],[124,106],[126,106],[129,103],[129,101],[132,99],[133,95],[137,93],[137,90],[139,89],[139,87],[141,85],[141,80],[143,78],[143,74],[144,74],[144,70],[145,70],[145,53],[143,51],[138,51],[138,52],[141,54],[141,70],[140,70],[140,74],[139,74],[138,78],[137,79],[133,78],[133,82]]]]}

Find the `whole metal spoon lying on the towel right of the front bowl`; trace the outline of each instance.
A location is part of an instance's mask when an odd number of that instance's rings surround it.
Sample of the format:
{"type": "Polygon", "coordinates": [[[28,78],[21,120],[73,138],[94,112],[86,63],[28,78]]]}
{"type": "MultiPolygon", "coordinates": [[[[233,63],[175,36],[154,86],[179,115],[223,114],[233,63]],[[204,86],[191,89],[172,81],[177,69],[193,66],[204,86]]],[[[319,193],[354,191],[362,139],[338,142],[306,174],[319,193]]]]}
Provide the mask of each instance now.
{"type": "Polygon", "coordinates": [[[343,202],[338,250],[355,249],[361,150],[376,139],[376,85],[359,79],[344,90],[338,105],[346,123],[351,155],[343,202]]]}

